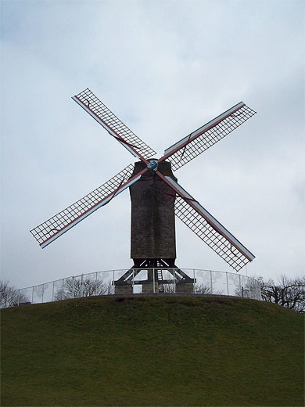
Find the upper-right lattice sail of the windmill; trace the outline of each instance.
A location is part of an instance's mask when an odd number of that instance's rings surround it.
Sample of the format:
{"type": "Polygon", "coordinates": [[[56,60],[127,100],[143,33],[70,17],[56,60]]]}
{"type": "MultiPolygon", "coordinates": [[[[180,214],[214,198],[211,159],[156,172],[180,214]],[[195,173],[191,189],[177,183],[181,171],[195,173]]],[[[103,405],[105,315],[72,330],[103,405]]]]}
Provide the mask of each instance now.
{"type": "Polygon", "coordinates": [[[169,159],[174,171],[216,144],[255,113],[244,102],[237,103],[231,109],[166,149],[159,161],[169,159]]]}

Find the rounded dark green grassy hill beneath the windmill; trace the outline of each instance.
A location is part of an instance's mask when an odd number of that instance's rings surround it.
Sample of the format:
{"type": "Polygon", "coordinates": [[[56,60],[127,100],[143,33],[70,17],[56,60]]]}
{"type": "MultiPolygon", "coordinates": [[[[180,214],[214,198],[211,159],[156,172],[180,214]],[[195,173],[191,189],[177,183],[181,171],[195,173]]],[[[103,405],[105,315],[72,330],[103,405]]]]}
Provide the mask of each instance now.
{"type": "Polygon", "coordinates": [[[1,311],[2,406],[301,406],[304,317],[222,297],[1,311]]]}

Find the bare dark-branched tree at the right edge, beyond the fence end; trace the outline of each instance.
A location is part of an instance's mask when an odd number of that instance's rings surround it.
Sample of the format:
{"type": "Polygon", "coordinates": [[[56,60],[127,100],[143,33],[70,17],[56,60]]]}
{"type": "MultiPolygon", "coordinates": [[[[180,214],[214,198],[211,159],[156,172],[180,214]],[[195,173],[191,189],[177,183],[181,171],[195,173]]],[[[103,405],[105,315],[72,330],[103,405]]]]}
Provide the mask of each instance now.
{"type": "Polygon", "coordinates": [[[261,283],[261,297],[264,301],[274,302],[286,308],[305,313],[305,277],[293,279],[282,275],[278,284],[270,279],[261,283]]]}

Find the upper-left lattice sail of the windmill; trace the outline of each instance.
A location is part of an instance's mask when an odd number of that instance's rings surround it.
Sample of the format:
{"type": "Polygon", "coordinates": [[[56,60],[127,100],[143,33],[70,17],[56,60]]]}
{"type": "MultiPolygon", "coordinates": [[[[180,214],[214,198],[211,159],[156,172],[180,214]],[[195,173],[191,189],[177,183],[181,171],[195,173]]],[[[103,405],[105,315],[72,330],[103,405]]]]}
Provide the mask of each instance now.
{"type": "Polygon", "coordinates": [[[116,138],[123,146],[135,157],[140,160],[152,158],[156,151],[145,144],[135,135],[124,123],[100,101],[90,89],[72,96],[72,99],[78,103],[87,113],[89,113],[102,127],[104,127],[111,136],[116,138]]]}

